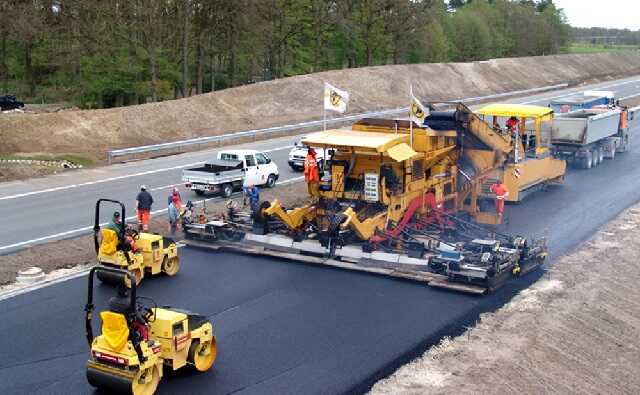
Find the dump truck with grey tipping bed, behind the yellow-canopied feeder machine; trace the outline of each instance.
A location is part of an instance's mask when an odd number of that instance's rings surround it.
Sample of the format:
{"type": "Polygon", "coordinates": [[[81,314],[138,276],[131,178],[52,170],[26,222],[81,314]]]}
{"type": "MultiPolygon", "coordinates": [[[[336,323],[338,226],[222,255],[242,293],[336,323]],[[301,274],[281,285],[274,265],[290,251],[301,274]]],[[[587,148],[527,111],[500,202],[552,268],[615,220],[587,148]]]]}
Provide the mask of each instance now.
{"type": "Polygon", "coordinates": [[[557,114],[551,124],[555,157],[590,169],[629,149],[629,116],[624,107],[596,106],[557,114]]]}

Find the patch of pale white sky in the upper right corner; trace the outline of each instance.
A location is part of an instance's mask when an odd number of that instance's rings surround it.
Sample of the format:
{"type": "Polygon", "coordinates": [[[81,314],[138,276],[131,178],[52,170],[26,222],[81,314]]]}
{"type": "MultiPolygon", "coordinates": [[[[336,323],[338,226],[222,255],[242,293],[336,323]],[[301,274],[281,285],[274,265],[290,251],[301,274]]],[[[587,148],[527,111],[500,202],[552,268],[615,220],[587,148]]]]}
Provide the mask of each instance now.
{"type": "Polygon", "coordinates": [[[640,0],[554,0],[575,27],[640,30],[640,0]]]}

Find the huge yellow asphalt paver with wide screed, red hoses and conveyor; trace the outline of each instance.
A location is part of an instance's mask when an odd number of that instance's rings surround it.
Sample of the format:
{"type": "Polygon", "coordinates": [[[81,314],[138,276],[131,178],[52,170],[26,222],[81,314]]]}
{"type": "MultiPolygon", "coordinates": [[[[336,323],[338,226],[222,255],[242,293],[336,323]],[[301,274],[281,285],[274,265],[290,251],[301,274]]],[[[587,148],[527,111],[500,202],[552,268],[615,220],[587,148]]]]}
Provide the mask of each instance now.
{"type": "MultiPolygon", "coordinates": [[[[311,201],[290,210],[278,200],[263,202],[252,229],[235,228],[244,233],[241,242],[220,244],[473,293],[537,268],[547,255],[544,240],[497,234],[465,219],[499,222],[470,201],[480,199],[477,184],[486,170],[504,166],[510,141],[464,105],[454,119],[451,130],[414,124],[411,133],[408,121],[366,119],[309,135],[303,144],[326,150],[328,158],[311,201]],[[477,146],[471,154],[490,154],[466,157],[463,144],[471,137],[477,146]],[[463,159],[489,163],[459,178],[463,159]]],[[[229,221],[216,223],[228,232],[229,221]]]]}

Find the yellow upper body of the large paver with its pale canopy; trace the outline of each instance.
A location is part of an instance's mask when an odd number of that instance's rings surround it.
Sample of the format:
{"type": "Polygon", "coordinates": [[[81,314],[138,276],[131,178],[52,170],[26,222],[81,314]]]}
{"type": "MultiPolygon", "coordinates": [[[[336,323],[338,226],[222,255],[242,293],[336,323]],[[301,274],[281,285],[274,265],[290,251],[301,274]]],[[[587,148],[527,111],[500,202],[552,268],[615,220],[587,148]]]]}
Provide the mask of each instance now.
{"type": "MultiPolygon", "coordinates": [[[[416,126],[413,138],[410,134],[407,121],[367,120],[354,124],[352,129],[314,133],[302,141],[307,146],[333,150],[331,182],[326,188],[321,186],[315,197],[377,205],[373,213],[356,212],[353,208],[343,212],[346,221],[342,227],[351,227],[363,240],[386,229],[390,222],[400,221],[411,202],[427,192],[434,194],[438,204],[455,206],[456,132],[416,126]],[[386,174],[381,174],[382,168],[387,169],[386,174]],[[369,187],[371,195],[362,196],[362,192],[347,188],[350,180],[364,182],[367,177],[376,180],[369,187]],[[397,180],[395,186],[387,177],[397,180]]],[[[418,215],[428,211],[430,202],[422,200],[418,215]]],[[[317,201],[285,211],[276,200],[265,213],[280,218],[292,230],[310,219],[316,219],[322,228],[330,226],[325,209],[317,201]]]]}

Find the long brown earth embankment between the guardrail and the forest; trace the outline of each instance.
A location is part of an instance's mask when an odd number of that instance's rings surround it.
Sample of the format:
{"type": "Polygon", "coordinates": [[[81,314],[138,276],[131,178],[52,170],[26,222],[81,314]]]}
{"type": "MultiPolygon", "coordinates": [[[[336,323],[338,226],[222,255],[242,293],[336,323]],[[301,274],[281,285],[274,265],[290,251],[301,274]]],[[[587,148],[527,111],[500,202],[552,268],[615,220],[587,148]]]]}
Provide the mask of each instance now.
{"type": "Polygon", "coordinates": [[[496,59],[335,70],[181,100],[106,110],[0,117],[0,154],[38,150],[104,160],[108,149],[212,136],[317,119],[330,81],[351,94],[350,112],[403,106],[409,85],[443,100],[640,73],[640,53],[496,59]]]}

